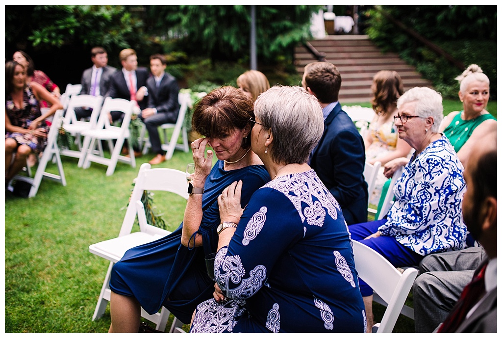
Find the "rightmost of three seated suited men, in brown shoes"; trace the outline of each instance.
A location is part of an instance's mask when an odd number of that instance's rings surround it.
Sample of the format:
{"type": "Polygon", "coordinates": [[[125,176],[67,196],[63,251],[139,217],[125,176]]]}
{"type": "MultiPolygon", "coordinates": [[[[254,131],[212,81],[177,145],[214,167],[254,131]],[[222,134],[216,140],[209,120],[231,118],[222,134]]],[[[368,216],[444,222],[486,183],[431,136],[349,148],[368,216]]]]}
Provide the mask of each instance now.
{"type": "Polygon", "coordinates": [[[180,91],[176,79],[166,73],[166,58],[155,54],[150,57],[150,71],[153,76],[147,80],[148,108],[141,112],[141,120],[146,125],[152,150],[157,155],[149,162],[159,164],[166,160],[166,153],[161,148],[158,127],[165,123],[176,123],[180,105],[180,91]]]}

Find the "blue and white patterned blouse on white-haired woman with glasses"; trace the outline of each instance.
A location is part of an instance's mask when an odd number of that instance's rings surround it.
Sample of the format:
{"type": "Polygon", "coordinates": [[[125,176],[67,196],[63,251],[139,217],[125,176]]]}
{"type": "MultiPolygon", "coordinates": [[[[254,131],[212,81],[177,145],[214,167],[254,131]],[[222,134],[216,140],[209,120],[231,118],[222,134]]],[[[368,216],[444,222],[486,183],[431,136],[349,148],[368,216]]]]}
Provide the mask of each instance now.
{"type": "Polygon", "coordinates": [[[460,250],[467,228],[462,218],[464,167],[446,136],[413,155],[394,187],[396,201],[379,228],[420,255],[460,250]]]}

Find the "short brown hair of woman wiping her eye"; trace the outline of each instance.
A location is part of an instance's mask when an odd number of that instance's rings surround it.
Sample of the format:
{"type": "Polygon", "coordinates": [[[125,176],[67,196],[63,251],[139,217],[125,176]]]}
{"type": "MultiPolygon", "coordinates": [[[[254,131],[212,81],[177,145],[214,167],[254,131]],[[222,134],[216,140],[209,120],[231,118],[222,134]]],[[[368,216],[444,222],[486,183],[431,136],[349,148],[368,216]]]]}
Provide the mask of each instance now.
{"type": "MultiPolygon", "coordinates": [[[[202,97],[195,105],[192,129],[209,138],[224,138],[234,129],[243,129],[254,117],[253,101],[232,86],[216,88],[202,97]]],[[[251,138],[244,138],[242,148],[251,145],[251,138]]]]}

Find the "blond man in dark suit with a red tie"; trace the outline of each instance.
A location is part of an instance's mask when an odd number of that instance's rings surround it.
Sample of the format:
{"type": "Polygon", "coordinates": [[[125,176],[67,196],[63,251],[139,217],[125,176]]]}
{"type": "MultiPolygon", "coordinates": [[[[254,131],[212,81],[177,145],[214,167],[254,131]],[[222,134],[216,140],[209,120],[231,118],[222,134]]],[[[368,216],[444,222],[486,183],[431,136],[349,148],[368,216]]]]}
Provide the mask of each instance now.
{"type": "MultiPolygon", "coordinates": [[[[147,107],[147,78],[150,73],[147,68],[138,68],[138,56],[136,51],[131,48],[122,49],[118,54],[121,71],[116,71],[110,77],[110,88],[105,96],[112,98],[124,98],[126,100],[135,100],[140,109],[147,107]]],[[[121,114],[117,111],[111,112],[111,120],[117,121],[121,114]]]]}

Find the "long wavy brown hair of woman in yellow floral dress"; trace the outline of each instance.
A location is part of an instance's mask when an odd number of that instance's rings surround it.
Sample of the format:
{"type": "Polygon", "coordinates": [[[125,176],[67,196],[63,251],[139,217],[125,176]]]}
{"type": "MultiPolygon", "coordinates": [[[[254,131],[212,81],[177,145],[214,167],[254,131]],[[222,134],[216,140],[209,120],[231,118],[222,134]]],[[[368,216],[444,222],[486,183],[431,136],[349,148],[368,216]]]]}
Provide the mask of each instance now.
{"type": "Polygon", "coordinates": [[[386,114],[389,109],[397,104],[398,98],[403,95],[403,80],[394,70],[381,70],[373,76],[371,84],[373,98],[371,106],[376,114],[386,114]]]}

